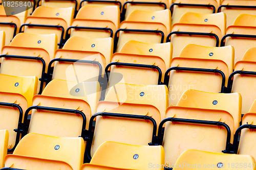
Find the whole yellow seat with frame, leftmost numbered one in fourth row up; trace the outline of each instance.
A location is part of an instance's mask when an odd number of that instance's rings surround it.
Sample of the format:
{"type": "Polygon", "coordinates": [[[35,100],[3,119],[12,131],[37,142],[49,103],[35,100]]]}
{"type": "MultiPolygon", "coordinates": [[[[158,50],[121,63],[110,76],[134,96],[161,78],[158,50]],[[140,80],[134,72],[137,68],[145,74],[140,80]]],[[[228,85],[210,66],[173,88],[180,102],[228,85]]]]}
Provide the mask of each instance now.
{"type": "Polygon", "coordinates": [[[40,6],[27,17],[19,32],[30,34],[56,34],[61,47],[66,30],[70,27],[74,16],[74,8],[50,8],[40,6]]]}

